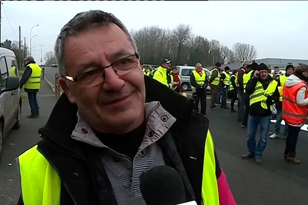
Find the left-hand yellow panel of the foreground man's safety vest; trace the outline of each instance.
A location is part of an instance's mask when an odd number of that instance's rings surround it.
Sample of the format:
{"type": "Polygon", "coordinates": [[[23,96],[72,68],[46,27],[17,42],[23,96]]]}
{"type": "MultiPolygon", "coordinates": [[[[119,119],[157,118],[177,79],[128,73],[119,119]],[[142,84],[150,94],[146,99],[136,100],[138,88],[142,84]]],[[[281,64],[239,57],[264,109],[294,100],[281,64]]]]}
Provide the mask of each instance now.
{"type": "Polygon", "coordinates": [[[18,157],[24,204],[58,205],[61,179],[36,147],[18,157]]]}

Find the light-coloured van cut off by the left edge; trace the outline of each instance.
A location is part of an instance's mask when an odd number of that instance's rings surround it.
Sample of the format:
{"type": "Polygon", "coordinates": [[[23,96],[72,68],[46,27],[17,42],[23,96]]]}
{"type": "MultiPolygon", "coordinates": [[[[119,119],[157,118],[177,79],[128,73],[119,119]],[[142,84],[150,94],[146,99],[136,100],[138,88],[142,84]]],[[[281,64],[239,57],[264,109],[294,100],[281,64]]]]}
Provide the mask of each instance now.
{"type": "Polygon", "coordinates": [[[21,125],[22,97],[16,62],[13,51],[0,48],[0,159],[5,136],[21,125]]]}

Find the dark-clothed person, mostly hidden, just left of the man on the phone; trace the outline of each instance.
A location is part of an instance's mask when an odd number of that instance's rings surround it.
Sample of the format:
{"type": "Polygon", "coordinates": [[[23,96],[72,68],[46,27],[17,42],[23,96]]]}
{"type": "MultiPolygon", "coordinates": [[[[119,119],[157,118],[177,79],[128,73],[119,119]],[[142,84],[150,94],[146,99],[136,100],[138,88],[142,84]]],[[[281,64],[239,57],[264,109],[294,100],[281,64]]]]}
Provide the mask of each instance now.
{"type": "Polygon", "coordinates": [[[238,104],[238,120],[243,121],[244,109],[245,109],[245,98],[244,98],[244,80],[243,75],[245,74],[247,67],[247,63],[244,63],[243,66],[238,70],[236,74],[236,84],[237,84],[237,92],[239,96],[238,104]]]}

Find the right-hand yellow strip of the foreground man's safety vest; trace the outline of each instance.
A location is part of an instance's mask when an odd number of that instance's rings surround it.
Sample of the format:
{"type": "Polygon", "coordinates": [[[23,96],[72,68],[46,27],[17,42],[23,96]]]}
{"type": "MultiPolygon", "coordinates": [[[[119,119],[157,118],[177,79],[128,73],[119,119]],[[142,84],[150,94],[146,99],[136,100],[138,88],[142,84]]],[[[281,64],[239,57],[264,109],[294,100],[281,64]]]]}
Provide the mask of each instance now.
{"type": "Polygon", "coordinates": [[[201,196],[204,205],[219,205],[214,145],[209,130],[205,141],[201,196]]]}

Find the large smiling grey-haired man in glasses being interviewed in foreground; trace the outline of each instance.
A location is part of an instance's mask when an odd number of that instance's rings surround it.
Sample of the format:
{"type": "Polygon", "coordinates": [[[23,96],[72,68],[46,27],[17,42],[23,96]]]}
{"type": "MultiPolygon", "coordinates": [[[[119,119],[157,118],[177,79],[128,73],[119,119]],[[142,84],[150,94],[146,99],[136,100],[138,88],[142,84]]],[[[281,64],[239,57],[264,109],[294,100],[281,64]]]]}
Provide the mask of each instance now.
{"type": "Polygon", "coordinates": [[[235,204],[208,120],[191,99],[143,75],[118,18],[77,14],[55,56],[64,93],[39,130],[43,140],[18,157],[20,204],[144,204],[139,177],[159,165],[178,171],[186,200],[235,204]]]}

